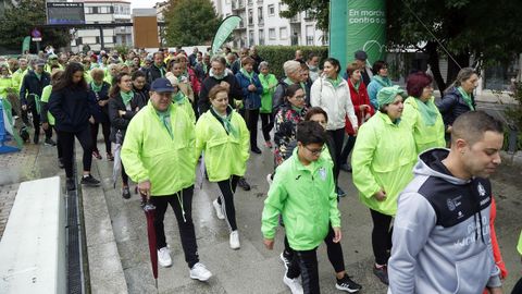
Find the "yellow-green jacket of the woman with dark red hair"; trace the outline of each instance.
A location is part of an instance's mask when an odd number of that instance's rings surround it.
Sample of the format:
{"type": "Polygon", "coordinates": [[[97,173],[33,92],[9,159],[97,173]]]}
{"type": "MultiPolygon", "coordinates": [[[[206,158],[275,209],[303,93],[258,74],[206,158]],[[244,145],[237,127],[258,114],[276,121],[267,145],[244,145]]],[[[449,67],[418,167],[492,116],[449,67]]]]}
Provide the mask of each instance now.
{"type": "MultiPolygon", "coordinates": [[[[428,103],[434,103],[432,97],[428,103]]],[[[401,123],[410,125],[413,132],[413,139],[415,140],[417,154],[421,154],[424,150],[434,147],[446,147],[446,140],[444,139],[444,121],[443,115],[438,111],[437,107],[433,105],[437,111],[437,119],[434,125],[427,125],[422,114],[419,112],[419,106],[415,98],[408,97],[405,101],[405,110],[402,110],[401,123]]]]}

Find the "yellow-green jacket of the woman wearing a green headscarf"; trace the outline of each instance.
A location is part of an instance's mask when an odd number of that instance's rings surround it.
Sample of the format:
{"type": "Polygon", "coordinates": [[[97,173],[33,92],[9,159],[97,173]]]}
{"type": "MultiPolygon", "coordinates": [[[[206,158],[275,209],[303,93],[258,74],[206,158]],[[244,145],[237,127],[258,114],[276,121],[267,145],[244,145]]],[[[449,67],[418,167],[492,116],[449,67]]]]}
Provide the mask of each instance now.
{"type": "Polygon", "coordinates": [[[378,111],[359,128],[351,155],[359,199],[372,210],[395,216],[397,198],[413,179],[415,161],[415,144],[409,125],[395,124],[378,111]],[[373,197],[381,189],[386,192],[384,201],[373,197]]]}

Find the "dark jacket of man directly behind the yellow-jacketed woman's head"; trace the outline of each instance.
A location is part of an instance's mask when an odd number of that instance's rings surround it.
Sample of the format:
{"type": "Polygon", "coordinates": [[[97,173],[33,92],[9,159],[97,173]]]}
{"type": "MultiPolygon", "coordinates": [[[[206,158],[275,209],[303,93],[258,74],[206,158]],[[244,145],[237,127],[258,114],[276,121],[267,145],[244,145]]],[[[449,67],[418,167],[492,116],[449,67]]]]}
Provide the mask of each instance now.
{"type": "Polygon", "coordinates": [[[221,82],[226,82],[231,85],[231,90],[228,93],[228,105],[231,105],[232,108],[234,109],[236,108],[236,106],[234,105],[234,99],[236,100],[243,99],[241,87],[239,86],[239,83],[237,83],[236,77],[234,75],[228,73],[222,79],[217,79],[214,76],[209,76],[201,84],[201,91],[199,93],[198,108],[199,108],[200,115],[210,109],[210,100],[209,100],[210,89],[215,85],[219,85],[221,82]]]}

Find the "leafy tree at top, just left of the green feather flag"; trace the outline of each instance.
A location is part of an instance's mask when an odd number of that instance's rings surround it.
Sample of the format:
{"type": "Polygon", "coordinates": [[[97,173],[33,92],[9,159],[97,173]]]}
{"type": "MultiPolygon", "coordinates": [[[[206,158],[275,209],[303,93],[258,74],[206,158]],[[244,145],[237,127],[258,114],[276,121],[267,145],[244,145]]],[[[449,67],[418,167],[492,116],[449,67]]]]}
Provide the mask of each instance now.
{"type": "Polygon", "coordinates": [[[170,0],[165,12],[169,46],[210,42],[221,20],[210,0],[170,0]]]}

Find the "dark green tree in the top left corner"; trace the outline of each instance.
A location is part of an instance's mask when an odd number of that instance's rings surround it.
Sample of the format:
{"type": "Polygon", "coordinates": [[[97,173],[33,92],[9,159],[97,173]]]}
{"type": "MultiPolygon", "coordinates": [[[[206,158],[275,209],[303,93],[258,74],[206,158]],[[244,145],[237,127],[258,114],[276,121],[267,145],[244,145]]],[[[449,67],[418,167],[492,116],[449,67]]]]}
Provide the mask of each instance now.
{"type": "Polygon", "coordinates": [[[17,5],[5,9],[0,22],[0,47],[20,50],[25,36],[30,35],[33,28],[38,28],[42,35],[42,42],[54,48],[65,47],[71,41],[69,29],[42,28],[46,24],[45,0],[22,0],[17,5]]]}

